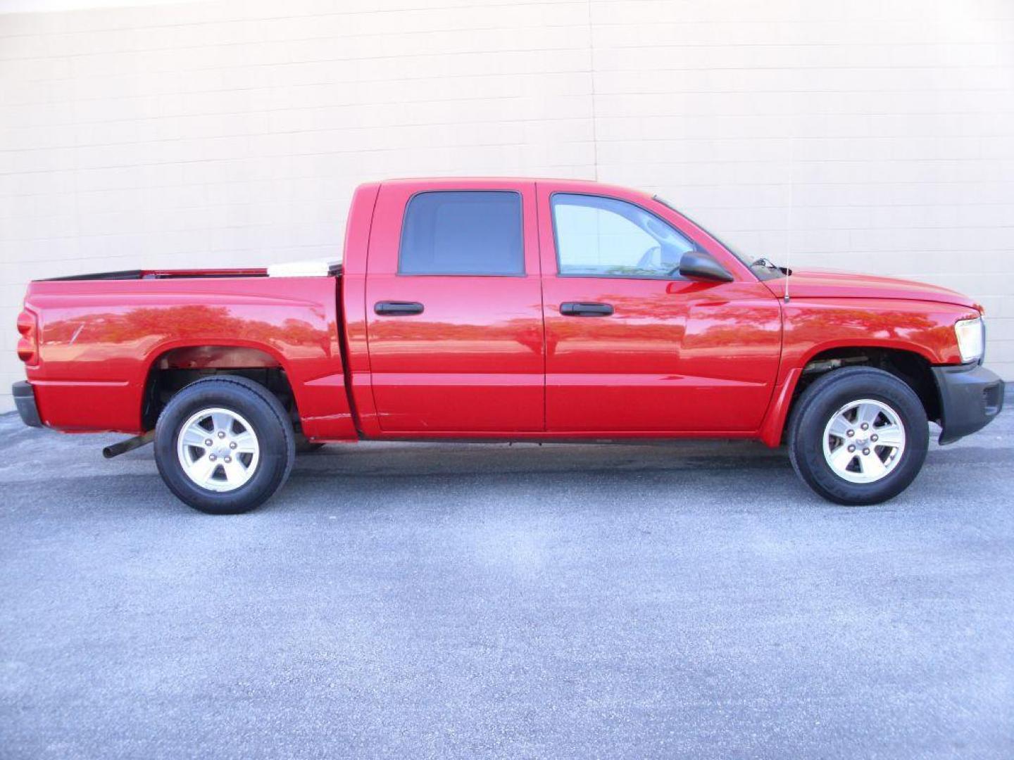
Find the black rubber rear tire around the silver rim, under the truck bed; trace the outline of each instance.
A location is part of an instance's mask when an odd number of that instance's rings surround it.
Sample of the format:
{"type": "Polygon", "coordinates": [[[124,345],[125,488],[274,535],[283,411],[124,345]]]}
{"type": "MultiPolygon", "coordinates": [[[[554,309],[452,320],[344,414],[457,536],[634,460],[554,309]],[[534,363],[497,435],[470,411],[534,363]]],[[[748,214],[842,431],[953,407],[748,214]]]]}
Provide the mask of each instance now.
{"type": "Polygon", "coordinates": [[[205,378],[176,393],[155,426],[155,464],[165,484],[180,501],[210,515],[236,515],[259,507],[289,476],[295,460],[292,423],[278,398],[263,385],[238,376],[205,378]],[[234,490],[201,487],[184,471],[176,438],[191,415],[221,407],[241,415],[254,428],[259,461],[249,479],[234,490]]]}

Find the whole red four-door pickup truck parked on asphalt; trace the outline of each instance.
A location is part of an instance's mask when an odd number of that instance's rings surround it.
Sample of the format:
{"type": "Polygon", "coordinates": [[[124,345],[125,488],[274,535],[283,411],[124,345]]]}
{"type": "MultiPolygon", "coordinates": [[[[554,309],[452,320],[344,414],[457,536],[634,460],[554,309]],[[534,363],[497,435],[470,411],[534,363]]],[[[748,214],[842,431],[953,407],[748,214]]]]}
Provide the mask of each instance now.
{"type": "Polygon", "coordinates": [[[750,261],[657,197],[589,181],[360,186],[341,264],[28,286],[27,425],[154,440],[187,504],[243,512],[297,443],[752,438],[875,504],[1000,412],[982,308],[750,261]]]}

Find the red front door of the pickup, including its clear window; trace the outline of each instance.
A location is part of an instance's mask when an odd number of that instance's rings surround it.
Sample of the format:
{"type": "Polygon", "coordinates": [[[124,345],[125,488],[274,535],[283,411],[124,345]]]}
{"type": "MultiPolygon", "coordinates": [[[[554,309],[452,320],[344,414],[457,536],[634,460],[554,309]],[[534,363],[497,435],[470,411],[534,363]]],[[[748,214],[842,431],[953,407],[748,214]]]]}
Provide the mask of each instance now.
{"type": "Polygon", "coordinates": [[[781,352],[777,299],[657,201],[581,189],[538,183],[547,430],[757,430],[781,352]],[[695,249],[734,282],[682,279],[680,256],[695,249]]]}

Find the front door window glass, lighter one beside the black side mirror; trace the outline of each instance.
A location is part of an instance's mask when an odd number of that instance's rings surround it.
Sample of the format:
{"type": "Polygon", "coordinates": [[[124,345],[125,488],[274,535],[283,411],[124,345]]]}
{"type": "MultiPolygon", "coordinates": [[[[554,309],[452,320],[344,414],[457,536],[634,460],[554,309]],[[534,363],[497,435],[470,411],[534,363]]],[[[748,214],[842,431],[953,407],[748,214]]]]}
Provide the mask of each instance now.
{"type": "Polygon", "coordinates": [[[678,280],[690,240],[667,222],[626,201],[558,193],[553,225],[561,275],[678,280]]]}

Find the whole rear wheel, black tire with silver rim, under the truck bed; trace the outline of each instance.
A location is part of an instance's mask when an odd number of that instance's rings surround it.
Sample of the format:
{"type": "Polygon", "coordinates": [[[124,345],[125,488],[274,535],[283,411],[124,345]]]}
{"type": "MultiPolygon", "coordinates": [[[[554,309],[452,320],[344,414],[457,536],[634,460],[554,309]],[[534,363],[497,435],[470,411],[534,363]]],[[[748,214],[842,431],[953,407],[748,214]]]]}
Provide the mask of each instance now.
{"type": "Polygon", "coordinates": [[[177,498],[213,515],[270,499],[295,459],[292,423],[278,398],[243,377],[191,383],[155,426],[155,463],[177,498]]]}

